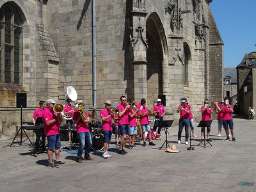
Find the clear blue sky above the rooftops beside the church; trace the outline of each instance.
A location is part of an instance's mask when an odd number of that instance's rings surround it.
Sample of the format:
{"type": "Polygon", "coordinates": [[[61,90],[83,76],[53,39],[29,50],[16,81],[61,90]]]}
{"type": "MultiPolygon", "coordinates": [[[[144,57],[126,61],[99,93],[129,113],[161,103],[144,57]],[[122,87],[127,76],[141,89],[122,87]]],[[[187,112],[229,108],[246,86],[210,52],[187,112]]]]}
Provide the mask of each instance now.
{"type": "Polygon", "coordinates": [[[237,67],[256,51],[256,0],[212,0],[210,8],[224,42],[224,67],[237,67]]]}

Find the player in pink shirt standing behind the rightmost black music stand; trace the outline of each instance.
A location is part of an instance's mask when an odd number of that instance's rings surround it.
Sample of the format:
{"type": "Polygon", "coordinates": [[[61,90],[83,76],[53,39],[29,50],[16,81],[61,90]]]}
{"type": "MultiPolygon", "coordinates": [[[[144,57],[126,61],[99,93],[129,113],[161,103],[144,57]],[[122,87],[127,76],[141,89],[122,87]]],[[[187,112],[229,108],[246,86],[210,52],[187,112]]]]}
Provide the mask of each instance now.
{"type": "MultiPolygon", "coordinates": [[[[211,108],[211,106],[209,106],[209,100],[205,99],[204,106],[201,107],[201,113],[202,113],[202,121],[211,120],[211,115],[213,114],[213,109],[211,108]]],[[[206,141],[212,141],[211,139],[209,139],[210,131],[211,131],[211,125],[209,125],[207,127],[206,141]]],[[[204,132],[205,132],[205,127],[202,127],[202,129],[201,129],[202,140],[200,140],[200,142],[204,141],[204,139],[205,139],[204,132]]]]}

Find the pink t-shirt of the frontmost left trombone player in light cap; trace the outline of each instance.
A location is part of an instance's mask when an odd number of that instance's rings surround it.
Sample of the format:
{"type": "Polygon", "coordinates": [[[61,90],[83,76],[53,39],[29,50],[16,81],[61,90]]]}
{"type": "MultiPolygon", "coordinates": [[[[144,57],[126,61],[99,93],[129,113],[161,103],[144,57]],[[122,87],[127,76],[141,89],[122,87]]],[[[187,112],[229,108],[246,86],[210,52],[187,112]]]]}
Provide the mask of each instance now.
{"type": "Polygon", "coordinates": [[[54,135],[54,134],[60,134],[60,123],[58,121],[54,122],[54,124],[51,124],[47,126],[45,122],[48,122],[49,120],[52,120],[56,118],[57,114],[54,113],[54,111],[50,110],[49,108],[45,108],[42,113],[42,120],[44,123],[44,132],[46,136],[54,135]]]}

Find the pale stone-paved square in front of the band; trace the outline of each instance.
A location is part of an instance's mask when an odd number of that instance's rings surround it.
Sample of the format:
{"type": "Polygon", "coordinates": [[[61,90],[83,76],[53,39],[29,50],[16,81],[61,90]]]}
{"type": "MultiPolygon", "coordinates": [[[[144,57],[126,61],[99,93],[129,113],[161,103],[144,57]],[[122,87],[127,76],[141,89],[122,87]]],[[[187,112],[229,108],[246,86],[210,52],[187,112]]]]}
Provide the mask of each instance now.
{"type": "MultiPolygon", "coordinates": [[[[236,142],[225,141],[224,131],[218,137],[218,124],[212,122],[212,146],[197,146],[200,128],[195,127],[197,138],[191,138],[191,147],[177,144],[178,127],[168,128],[170,147],[175,145],[179,153],[166,152],[159,148],[165,141],[162,131],[161,140],[156,146],[127,150],[128,154],[117,154],[113,147],[109,154],[113,157],[102,158],[102,152],[92,152],[93,161],[76,163],[76,151],[61,151],[61,161],[66,164],[59,168],[47,167],[47,154],[33,156],[33,148],[28,140],[20,146],[13,138],[3,136],[1,147],[0,191],[256,191],[256,131],[255,120],[234,118],[236,142]]],[[[198,125],[198,123],[195,123],[198,125]]],[[[33,138],[31,138],[33,140],[33,138]]],[[[67,147],[67,141],[61,141],[67,147]]],[[[148,142],[147,142],[148,144],[148,142]]]]}

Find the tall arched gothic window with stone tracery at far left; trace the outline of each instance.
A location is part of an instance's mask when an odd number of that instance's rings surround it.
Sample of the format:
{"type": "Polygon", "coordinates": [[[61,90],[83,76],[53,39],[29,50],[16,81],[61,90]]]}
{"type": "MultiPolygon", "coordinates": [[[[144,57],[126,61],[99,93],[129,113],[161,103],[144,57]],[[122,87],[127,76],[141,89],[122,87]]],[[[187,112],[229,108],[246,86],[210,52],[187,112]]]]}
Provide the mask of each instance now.
{"type": "Polygon", "coordinates": [[[22,22],[13,6],[0,9],[0,83],[22,84],[22,22]]]}

